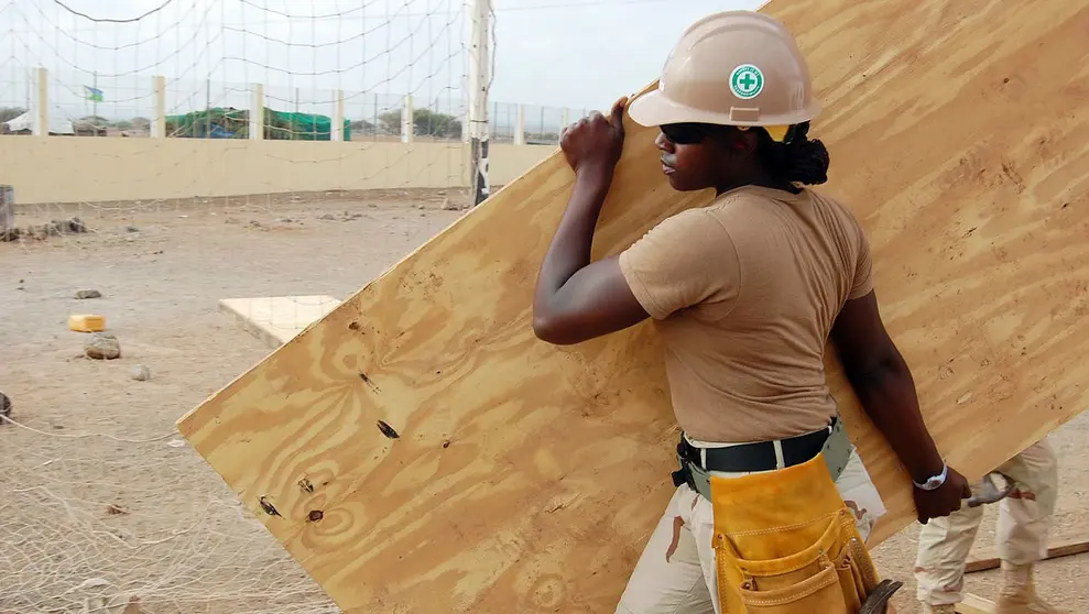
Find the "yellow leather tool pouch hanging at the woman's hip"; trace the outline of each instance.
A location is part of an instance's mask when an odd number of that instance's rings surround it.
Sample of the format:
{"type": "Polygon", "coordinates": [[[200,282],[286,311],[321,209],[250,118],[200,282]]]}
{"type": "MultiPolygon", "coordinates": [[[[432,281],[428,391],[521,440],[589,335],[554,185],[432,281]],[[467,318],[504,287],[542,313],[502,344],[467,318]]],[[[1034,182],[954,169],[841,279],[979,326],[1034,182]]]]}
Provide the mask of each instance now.
{"type": "Polygon", "coordinates": [[[711,496],[725,614],[861,614],[871,595],[868,611],[876,614],[899,588],[881,583],[820,456],[770,473],[714,476],[711,496]]]}

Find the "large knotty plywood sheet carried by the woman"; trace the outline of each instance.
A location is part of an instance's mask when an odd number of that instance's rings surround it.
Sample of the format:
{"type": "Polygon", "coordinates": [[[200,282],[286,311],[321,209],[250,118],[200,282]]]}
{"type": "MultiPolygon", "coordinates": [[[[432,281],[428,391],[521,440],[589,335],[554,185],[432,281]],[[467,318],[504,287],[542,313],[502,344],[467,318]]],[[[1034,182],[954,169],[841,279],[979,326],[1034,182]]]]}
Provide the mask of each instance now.
{"type": "MultiPolygon", "coordinates": [[[[825,105],[820,189],[867,228],[927,423],[978,479],[1089,404],[1089,6],[764,11],[825,105]]],[[[628,122],[596,256],[711,196],[671,190],[656,134],[628,122]]],[[[677,430],[653,327],[533,336],[571,179],[545,160],[178,421],[345,611],[614,607],[673,490],[677,430]]],[[[827,364],[890,508],[880,542],[914,520],[910,483],[827,364]]]]}

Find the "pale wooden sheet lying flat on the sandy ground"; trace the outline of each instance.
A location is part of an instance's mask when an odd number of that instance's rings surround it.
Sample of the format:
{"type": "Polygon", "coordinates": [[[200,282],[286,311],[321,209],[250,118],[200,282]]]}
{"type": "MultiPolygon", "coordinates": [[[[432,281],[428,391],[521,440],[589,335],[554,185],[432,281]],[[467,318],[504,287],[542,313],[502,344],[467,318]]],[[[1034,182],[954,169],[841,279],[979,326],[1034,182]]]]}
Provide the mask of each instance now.
{"type": "Polygon", "coordinates": [[[224,298],[219,310],[235,317],[269,347],[279,348],[339,305],[340,300],[325,295],[262,296],[224,298]]]}

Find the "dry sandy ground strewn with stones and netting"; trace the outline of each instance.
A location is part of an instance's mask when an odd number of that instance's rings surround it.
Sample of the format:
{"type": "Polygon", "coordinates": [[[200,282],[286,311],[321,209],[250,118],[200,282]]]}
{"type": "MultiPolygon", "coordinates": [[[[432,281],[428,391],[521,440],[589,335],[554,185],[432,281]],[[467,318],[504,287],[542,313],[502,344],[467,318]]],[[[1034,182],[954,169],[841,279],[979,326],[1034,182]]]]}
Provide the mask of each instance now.
{"type": "MultiPolygon", "coordinates": [[[[79,216],[91,230],[0,243],[0,391],[26,428],[0,426],[0,613],[83,612],[134,596],[148,614],[337,612],[174,421],[270,351],[217,309],[227,297],[345,298],[460,215],[464,195],[317,194],[30,207],[20,226],[79,216]],[[101,298],[76,300],[79,289],[101,298]],[[83,357],[70,314],[107,318],[119,360],[83,357]],[[134,380],[146,366],[151,377],[134,380]],[[101,602],[98,602],[100,605],[101,602]]],[[[1086,537],[1083,415],[1052,436],[1056,539],[1086,537]]],[[[993,544],[995,509],[977,540],[993,544]]],[[[916,528],[875,558],[916,612],[916,528]]],[[[1086,556],[1043,563],[1041,591],[1086,612],[1086,556]]],[[[990,595],[995,571],[972,574],[990,595]]],[[[110,610],[118,613],[121,607],[110,610]]],[[[105,611],[102,611],[105,612],[105,611]]]]}

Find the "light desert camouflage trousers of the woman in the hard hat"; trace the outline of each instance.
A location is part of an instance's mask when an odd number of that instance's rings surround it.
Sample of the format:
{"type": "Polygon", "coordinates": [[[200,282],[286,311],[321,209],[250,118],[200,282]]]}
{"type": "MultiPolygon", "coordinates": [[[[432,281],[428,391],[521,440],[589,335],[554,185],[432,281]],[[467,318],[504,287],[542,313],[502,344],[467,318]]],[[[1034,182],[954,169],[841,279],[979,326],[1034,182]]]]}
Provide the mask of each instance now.
{"type": "MultiPolygon", "coordinates": [[[[858,451],[836,487],[868,538],[885,507],[858,451]]],[[[720,614],[714,535],[711,502],[682,484],[635,564],[617,614],[720,614]]]]}

